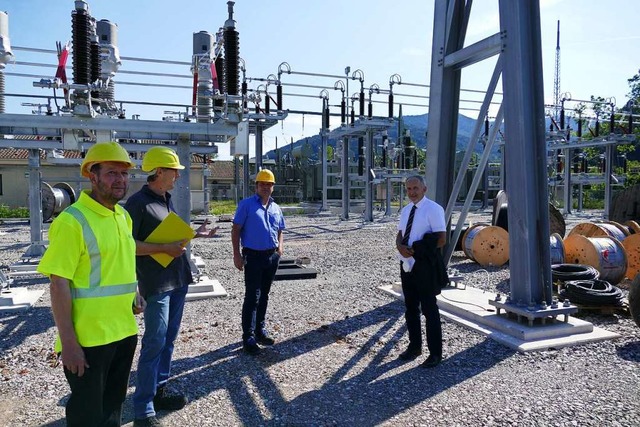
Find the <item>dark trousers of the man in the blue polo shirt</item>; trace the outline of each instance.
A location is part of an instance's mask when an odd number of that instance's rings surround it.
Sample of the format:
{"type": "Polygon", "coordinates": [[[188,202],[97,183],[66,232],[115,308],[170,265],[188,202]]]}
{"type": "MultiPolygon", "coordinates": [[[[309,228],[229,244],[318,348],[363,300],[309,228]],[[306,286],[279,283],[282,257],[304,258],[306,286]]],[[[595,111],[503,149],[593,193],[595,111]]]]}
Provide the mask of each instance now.
{"type": "Polygon", "coordinates": [[[280,255],[245,252],[244,302],[242,303],[242,339],[264,330],[269,291],[278,270],[280,255]]]}

